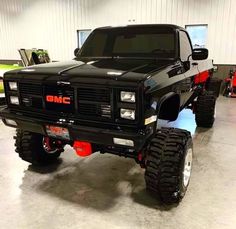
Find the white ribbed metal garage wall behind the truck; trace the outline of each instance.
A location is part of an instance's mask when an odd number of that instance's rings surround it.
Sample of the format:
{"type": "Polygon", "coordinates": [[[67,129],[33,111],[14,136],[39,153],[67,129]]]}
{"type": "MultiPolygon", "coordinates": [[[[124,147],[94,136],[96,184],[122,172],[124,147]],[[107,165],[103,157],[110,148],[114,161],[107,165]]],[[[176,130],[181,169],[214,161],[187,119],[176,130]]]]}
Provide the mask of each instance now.
{"type": "Polygon", "coordinates": [[[0,59],[19,48],[45,48],[73,58],[77,29],[130,23],[208,24],[217,64],[236,64],[235,0],[0,0],[0,59]]]}

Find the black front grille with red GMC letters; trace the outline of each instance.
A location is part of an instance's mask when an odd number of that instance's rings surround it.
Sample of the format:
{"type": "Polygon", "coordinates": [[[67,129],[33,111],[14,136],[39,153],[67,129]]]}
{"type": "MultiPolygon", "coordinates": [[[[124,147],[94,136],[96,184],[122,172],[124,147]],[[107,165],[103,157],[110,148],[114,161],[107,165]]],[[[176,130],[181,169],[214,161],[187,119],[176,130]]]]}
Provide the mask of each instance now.
{"type": "Polygon", "coordinates": [[[69,85],[40,85],[19,83],[21,107],[26,110],[58,112],[76,115],[81,119],[111,119],[111,88],[71,87],[69,85]],[[66,98],[70,103],[64,103],[66,98]]]}

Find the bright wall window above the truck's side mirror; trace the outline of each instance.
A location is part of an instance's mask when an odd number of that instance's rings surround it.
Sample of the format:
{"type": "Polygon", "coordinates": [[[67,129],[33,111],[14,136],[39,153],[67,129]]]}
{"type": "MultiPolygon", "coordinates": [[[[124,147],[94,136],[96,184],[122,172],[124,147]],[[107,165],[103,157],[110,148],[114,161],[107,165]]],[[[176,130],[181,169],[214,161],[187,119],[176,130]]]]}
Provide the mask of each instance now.
{"type": "Polygon", "coordinates": [[[207,42],[207,25],[186,25],[193,48],[205,48],[207,42]]]}

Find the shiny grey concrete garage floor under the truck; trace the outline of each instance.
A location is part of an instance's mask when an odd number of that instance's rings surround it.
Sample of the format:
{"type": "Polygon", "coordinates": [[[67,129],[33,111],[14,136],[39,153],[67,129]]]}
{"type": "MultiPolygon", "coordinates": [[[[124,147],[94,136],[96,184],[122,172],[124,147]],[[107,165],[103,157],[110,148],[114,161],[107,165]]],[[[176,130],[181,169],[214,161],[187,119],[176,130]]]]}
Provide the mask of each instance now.
{"type": "Polygon", "coordinates": [[[185,198],[167,207],[132,160],[68,148],[61,163],[34,169],[0,124],[0,228],[236,228],[236,99],[218,100],[212,129],[196,128],[188,110],[171,125],[192,132],[195,158],[185,198]]]}

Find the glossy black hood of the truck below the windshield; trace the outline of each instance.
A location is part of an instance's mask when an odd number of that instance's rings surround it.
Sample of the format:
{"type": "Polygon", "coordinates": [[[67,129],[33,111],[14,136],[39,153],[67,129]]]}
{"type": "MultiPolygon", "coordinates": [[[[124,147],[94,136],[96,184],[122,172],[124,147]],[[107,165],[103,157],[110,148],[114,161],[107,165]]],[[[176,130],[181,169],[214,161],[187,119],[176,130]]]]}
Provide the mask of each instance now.
{"type": "MultiPolygon", "coordinates": [[[[171,61],[173,62],[173,61],[171,61]]],[[[55,62],[35,65],[24,69],[7,72],[16,77],[34,79],[73,81],[78,78],[102,78],[116,81],[142,81],[151,73],[170,64],[170,61],[134,60],[134,59],[99,59],[92,61],[72,60],[69,62],[55,62]]]]}

